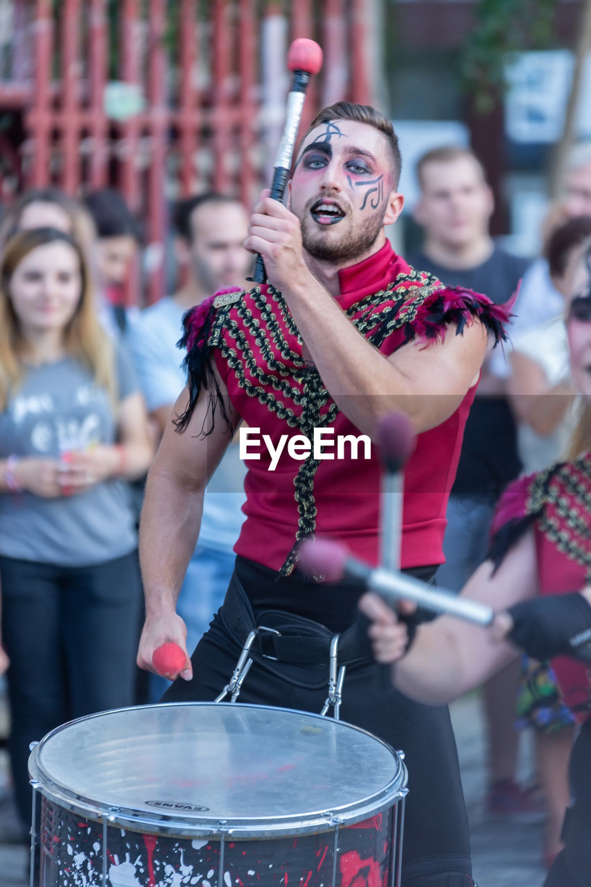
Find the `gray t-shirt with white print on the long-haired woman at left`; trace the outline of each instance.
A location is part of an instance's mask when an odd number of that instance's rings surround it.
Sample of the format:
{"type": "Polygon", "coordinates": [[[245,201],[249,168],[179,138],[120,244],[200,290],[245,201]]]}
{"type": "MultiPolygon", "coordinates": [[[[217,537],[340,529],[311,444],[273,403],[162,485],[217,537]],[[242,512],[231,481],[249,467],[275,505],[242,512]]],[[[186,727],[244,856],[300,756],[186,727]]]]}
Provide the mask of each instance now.
{"type": "MultiPolygon", "coordinates": [[[[119,399],[138,389],[129,358],[115,349],[119,399]]],[[[60,458],[114,443],[112,404],[73,357],[31,367],[0,413],[0,459],[60,458]]],[[[74,496],[0,494],[0,554],[24,561],[89,566],[137,546],[127,483],[110,479],[74,496]]]]}

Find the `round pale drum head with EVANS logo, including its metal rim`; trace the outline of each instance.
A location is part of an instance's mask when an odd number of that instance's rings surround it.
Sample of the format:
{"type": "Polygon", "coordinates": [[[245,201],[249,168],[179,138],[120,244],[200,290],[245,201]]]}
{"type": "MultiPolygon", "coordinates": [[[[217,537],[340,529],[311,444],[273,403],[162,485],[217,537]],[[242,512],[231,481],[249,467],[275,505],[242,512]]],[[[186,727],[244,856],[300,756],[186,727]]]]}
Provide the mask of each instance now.
{"type": "Polygon", "coordinates": [[[29,772],[36,789],[69,810],[186,836],[318,832],[406,794],[398,755],[359,727],[239,703],[80,718],[45,736],[29,772]]]}

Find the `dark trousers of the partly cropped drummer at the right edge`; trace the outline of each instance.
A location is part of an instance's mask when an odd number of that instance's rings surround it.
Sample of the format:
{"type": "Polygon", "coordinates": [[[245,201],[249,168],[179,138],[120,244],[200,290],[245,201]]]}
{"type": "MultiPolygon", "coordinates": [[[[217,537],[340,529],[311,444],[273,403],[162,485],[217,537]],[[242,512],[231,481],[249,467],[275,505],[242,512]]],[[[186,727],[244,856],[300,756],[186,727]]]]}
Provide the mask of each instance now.
{"type": "Polygon", "coordinates": [[[544,887],[588,887],[591,883],[591,720],[581,727],[570,769],[576,800],[564,817],[564,849],[554,860],[544,887]]]}

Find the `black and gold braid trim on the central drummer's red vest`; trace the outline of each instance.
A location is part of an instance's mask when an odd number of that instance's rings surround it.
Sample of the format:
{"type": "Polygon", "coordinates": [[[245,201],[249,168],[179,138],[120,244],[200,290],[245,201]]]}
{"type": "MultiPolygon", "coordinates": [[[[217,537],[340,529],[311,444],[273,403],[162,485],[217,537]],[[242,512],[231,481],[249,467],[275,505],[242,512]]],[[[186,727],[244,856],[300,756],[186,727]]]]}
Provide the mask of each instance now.
{"type": "MultiPolygon", "coordinates": [[[[442,288],[440,281],[426,272],[399,274],[387,287],[364,296],[344,313],[367,341],[379,347],[395,330],[412,324],[422,304],[442,288]]],[[[278,290],[268,286],[266,293],[255,287],[248,293],[223,294],[216,297],[214,305],[217,314],[208,345],[220,349],[248,396],[256,397],[288,426],[299,428],[308,437],[313,436],[314,428],[327,428],[335,423],[339,408],[318,371],[292,349],[283,333],[278,315],[301,348],[302,338],[278,290]],[[263,365],[257,361],[247,333],[255,341],[263,365]],[[280,359],[273,353],[273,346],[280,359]]],[[[296,565],[297,543],[312,537],[316,530],[314,477],[319,464],[320,460],[311,456],[304,459],[294,477],[298,514],[296,540],[280,570],[281,576],[288,576],[296,565]]]]}

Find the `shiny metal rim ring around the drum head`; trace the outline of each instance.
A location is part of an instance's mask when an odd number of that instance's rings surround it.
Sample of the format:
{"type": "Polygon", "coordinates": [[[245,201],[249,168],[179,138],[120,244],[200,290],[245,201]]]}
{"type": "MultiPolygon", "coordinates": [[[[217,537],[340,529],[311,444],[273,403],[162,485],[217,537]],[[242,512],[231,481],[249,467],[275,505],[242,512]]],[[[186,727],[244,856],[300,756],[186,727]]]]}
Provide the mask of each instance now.
{"type": "Polygon", "coordinates": [[[347,721],[334,721],[334,723],[343,727],[354,730],[360,734],[365,734],[374,742],[378,742],[386,749],[396,762],[396,773],[381,789],[374,791],[368,797],[359,799],[354,803],[346,803],[336,806],[326,811],[297,813],[289,815],[276,815],[269,817],[228,817],[227,820],[217,819],[217,817],[200,817],[195,819],[186,819],[180,812],[166,812],[148,814],[146,811],[138,811],[132,807],[108,805],[96,798],[85,797],[56,781],[51,777],[42,766],[40,756],[43,748],[57,734],[62,733],[75,724],[88,722],[94,718],[105,718],[114,713],[121,713],[130,710],[146,710],[165,708],[196,708],[196,707],[232,707],[240,709],[255,710],[278,710],[288,715],[300,715],[306,718],[315,718],[321,721],[333,720],[326,718],[311,711],[303,711],[299,709],[288,709],[274,705],[256,705],[251,703],[213,703],[213,702],[185,702],[185,703],[154,703],[151,705],[132,705],[121,709],[111,709],[106,711],[98,711],[83,718],[75,718],[75,720],[67,721],[51,730],[50,733],[43,736],[43,739],[36,743],[31,750],[28,758],[28,771],[30,782],[33,789],[53,804],[65,808],[70,812],[74,812],[86,819],[97,820],[98,822],[107,822],[117,828],[127,828],[130,831],[141,831],[152,835],[179,836],[187,838],[209,837],[212,839],[220,839],[222,837],[231,837],[232,840],[266,838],[273,836],[289,836],[289,835],[312,835],[319,832],[328,831],[331,828],[337,828],[340,825],[350,826],[358,822],[362,822],[384,810],[390,809],[398,804],[398,801],[406,797],[408,789],[408,773],[404,764],[404,755],[394,750],[388,742],[384,742],[378,736],[369,733],[363,727],[349,724],[347,721]]]}

